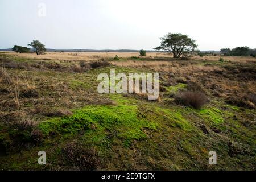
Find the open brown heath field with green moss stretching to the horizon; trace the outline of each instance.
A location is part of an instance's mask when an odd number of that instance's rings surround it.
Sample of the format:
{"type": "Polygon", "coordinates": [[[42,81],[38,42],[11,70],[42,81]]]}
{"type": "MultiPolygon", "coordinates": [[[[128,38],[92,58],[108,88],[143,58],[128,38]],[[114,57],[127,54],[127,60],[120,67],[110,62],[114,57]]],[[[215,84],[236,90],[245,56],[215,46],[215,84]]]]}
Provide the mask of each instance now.
{"type": "Polygon", "coordinates": [[[75,54],[0,53],[0,169],[255,170],[255,57],[75,54]],[[158,100],[99,94],[97,76],[112,68],[158,72],[158,100]],[[194,91],[207,97],[201,108],[177,102],[194,91]]]}

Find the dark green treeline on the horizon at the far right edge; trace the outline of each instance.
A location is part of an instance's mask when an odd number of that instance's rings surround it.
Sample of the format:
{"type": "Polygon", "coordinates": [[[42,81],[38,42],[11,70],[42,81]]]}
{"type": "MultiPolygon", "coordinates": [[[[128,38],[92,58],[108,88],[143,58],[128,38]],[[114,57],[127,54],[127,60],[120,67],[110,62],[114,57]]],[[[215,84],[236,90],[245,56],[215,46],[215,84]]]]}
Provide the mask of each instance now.
{"type": "Polygon", "coordinates": [[[225,56],[256,56],[256,48],[251,49],[249,47],[223,48],[220,52],[225,56]]]}

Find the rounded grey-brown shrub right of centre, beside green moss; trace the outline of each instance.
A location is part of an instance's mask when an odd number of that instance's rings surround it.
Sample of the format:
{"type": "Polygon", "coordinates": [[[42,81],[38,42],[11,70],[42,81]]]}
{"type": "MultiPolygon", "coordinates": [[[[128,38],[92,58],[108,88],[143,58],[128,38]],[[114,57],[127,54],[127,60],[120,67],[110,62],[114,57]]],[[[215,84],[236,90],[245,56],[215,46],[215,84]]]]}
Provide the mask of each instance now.
{"type": "Polygon", "coordinates": [[[185,91],[180,92],[175,96],[175,102],[177,104],[192,106],[195,109],[200,109],[207,104],[208,99],[203,92],[185,91]]]}

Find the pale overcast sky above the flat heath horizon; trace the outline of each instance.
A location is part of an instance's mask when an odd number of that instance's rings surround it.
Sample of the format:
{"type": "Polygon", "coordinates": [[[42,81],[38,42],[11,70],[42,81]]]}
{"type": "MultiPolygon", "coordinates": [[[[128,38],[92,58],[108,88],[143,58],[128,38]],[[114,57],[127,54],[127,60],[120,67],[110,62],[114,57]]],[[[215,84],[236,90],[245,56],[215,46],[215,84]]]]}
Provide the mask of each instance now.
{"type": "Polygon", "coordinates": [[[255,0],[0,0],[0,48],[36,39],[55,49],[152,49],[168,32],[189,35],[201,50],[255,48],[255,7],[255,0]]]}

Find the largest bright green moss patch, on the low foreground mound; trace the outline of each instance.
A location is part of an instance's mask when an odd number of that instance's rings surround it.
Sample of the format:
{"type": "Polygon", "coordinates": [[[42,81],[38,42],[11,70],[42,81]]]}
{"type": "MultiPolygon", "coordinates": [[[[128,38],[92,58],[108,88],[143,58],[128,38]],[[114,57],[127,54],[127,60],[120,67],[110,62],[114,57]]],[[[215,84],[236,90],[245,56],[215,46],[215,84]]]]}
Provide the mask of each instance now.
{"type": "Polygon", "coordinates": [[[133,105],[86,106],[76,110],[71,117],[54,118],[42,122],[39,128],[46,135],[72,135],[83,131],[93,142],[100,142],[108,134],[125,140],[125,146],[134,140],[146,138],[143,128],[155,130],[153,121],[137,117],[138,108],[133,105]]]}

